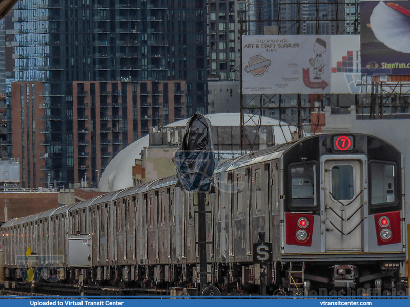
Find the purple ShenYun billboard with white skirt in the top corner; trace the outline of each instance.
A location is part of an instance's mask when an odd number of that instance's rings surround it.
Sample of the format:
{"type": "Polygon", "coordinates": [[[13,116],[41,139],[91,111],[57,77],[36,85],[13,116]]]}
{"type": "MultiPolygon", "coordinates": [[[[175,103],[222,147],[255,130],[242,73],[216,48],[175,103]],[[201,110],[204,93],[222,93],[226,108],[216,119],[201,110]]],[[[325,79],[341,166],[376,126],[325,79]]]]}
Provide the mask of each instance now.
{"type": "Polygon", "coordinates": [[[363,73],[410,75],[410,1],[360,2],[363,73]]]}

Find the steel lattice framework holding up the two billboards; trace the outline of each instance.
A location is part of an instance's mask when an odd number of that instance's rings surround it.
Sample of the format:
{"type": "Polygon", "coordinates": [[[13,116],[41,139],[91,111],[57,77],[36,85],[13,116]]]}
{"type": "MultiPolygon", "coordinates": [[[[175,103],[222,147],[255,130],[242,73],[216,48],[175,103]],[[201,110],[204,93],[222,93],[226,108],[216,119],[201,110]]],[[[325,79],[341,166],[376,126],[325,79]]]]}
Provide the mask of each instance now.
{"type": "MultiPolygon", "coordinates": [[[[358,35],[360,33],[359,0],[279,0],[267,4],[248,4],[247,18],[240,18],[242,35],[358,35]],[[265,12],[269,7],[270,15],[265,12]],[[253,20],[251,20],[253,19],[253,20]]],[[[240,57],[242,59],[242,48],[240,57]]],[[[242,62],[241,62],[242,65],[242,62]]],[[[248,121],[260,123],[260,116],[272,117],[297,127],[296,138],[315,134],[324,125],[324,108],[333,113],[349,113],[356,106],[358,118],[410,117],[410,76],[387,76],[375,73],[358,74],[357,82],[364,94],[243,94],[240,69],[241,150],[253,148],[244,127],[248,121]],[[249,117],[244,117],[249,114],[249,117]]],[[[282,128],[282,127],[281,127],[282,128]]]]}

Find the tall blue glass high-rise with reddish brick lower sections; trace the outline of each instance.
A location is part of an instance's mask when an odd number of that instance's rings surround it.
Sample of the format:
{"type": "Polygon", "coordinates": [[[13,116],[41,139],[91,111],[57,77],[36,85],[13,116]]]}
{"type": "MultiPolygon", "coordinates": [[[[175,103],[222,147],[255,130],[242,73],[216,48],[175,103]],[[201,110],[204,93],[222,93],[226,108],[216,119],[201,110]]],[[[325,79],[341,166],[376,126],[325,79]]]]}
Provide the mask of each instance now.
{"type": "Polygon", "coordinates": [[[146,124],[154,125],[207,112],[205,0],[20,0],[13,21],[14,41],[8,43],[15,58],[13,116],[20,112],[19,120],[13,117],[13,136],[19,135],[22,146],[13,147],[13,156],[22,163],[23,187],[47,186],[49,176],[67,186],[85,173],[95,185],[106,165],[92,162],[98,138],[106,142],[109,162],[146,134],[145,116],[146,124]],[[141,86],[162,94],[135,94],[141,86]],[[118,103],[98,113],[97,100],[104,103],[103,96],[110,96],[107,103],[117,98],[118,103]],[[145,101],[145,96],[150,96],[152,113],[145,114],[141,102],[134,107],[134,99],[145,101]],[[171,96],[177,99],[172,107],[167,105],[171,96]],[[82,107],[86,99],[90,104],[82,107]],[[101,116],[110,113],[111,135],[97,135],[104,129],[98,126],[104,126],[101,116]],[[81,121],[88,130],[78,130],[81,121]],[[91,156],[91,163],[84,164],[88,169],[80,168],[81,157],[74,158],[83,152],[91,156]]]}

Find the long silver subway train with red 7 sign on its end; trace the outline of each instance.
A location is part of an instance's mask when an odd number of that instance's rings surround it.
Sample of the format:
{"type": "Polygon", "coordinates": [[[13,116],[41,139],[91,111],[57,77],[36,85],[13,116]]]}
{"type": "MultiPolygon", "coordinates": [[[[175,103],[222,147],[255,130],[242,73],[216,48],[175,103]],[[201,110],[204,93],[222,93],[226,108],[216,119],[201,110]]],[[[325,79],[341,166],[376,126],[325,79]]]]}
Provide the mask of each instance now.
{"type": "MultiPolygon", "coordinates": [[[[207,193],[208,282],[222,294],[398,289],[403,173],[401,153],[365,134],[319,134],[220,162],[207,193]],[[260,263],[253,246],[263,232],[272,248],[260,263]]],[[[5,279],[26,280],[30,267],[34,281],[195,287],[197,197],[176,183],[162,178],[6,222],[5,279]]]]}

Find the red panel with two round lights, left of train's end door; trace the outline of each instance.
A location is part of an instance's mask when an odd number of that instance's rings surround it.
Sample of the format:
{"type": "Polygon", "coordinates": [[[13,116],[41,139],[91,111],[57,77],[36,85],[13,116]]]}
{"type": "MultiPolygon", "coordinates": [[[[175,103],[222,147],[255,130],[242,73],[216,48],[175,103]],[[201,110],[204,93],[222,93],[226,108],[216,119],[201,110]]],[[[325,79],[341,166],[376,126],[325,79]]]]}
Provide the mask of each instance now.
{"type": "Polygon", "coordinates": [[[311,246],[314,215],[286,212],[286,244],[311,246]]]}

